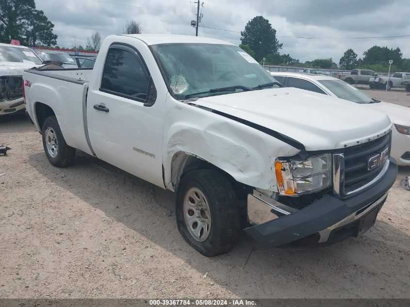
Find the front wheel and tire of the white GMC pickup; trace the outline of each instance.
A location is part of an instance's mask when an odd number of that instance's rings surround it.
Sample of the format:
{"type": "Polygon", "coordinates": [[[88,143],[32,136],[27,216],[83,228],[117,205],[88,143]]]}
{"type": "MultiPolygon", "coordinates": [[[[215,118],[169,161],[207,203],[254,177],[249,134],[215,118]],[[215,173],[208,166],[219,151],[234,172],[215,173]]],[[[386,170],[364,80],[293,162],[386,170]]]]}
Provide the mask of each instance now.
{"type": "Polygon", "coordinates": [[[216,170],[191,171],[181,178],[176,216],[185,241],[207,257],[227,253],[241,230],[236,193],[216,170]]]}

